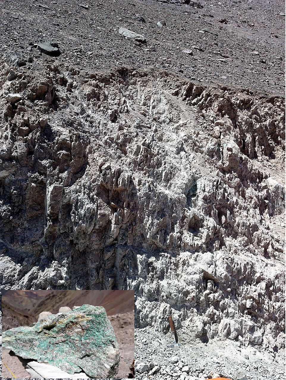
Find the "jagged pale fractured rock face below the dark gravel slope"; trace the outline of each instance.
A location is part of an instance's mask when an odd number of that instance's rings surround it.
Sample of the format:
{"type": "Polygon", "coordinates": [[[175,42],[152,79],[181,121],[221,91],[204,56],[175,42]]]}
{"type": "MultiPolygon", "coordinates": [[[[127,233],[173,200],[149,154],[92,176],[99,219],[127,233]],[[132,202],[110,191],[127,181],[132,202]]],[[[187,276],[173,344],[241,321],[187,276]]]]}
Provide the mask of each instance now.
{"type": "Polygon", "coordinates": [[[137,326],[166,332],[172,309],[202,338],[283,345],[282,98],[7,74],[22,98],[1,103],[3,288],[134,288],[137,326]]]}

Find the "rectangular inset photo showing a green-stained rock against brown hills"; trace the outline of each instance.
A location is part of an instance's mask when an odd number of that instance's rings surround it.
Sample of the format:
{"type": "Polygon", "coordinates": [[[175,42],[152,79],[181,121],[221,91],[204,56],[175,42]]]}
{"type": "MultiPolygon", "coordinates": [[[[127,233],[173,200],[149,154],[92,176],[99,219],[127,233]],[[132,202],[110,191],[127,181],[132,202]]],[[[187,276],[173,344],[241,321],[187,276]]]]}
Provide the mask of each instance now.
{"type": "Polygon", "coordinates": [[[134,291],[3,290],[2,378],[134,378],[134,291]]]}

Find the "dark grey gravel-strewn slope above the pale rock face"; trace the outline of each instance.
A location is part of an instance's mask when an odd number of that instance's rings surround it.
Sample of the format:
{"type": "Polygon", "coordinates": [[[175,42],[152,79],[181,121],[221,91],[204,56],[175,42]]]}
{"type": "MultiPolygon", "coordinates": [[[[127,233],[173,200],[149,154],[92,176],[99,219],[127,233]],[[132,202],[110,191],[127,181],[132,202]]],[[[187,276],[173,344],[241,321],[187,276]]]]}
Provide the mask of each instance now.
{"type": "Polygon", "coordinates": [[[47,57],[36,45],[56,41],[59,59],[81,70],[169,70],[201,82],[284,94],[282,1],[11,0],[1,10],[2,54],[26,61],[27,70],[41,68],[47,57]],[[146,43],[124,38],[120,27],[144,35],[146,43]]]}

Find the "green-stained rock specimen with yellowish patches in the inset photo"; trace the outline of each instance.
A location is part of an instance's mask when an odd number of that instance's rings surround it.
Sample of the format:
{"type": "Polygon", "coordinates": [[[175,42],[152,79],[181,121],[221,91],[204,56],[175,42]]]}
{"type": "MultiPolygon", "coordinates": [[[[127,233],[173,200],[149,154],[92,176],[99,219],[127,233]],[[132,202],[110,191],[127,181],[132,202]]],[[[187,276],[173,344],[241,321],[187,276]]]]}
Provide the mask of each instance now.
{"type": "Polygon", "coordinates": [[[89,377],[110,378],[119,368],[119,345],[101,306],[83,305],[7,330],[2,345],[23,359],[51,364],[69,374],[84,370],[89,377]]]}

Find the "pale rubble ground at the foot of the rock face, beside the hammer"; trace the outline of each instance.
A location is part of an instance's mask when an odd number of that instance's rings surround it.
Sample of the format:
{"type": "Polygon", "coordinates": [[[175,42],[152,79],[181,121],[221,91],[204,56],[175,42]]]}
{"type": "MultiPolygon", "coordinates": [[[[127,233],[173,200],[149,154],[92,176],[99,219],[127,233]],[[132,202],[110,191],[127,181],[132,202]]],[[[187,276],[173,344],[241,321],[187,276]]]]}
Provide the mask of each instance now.
{"type": "MultiPolygon", "coordinates": [[[[178,331],[180,347],[170,333],[159,336],[150,328],[136,329],[135,372],[138,380],[204,380],[216,374],[231,379],[282,379],[285,377],[284,355],[274,359],[258,346],[242,347],[240,342],[212,339],[207,343],[194,338],[184,340],[178,331]],[[144,367],[145,365],[145,367],[144,367]],[[246,376],[246,377],[243,377],[246,376]]],[[[216,376],[218,377],[218,376],[216,376]]]]}

